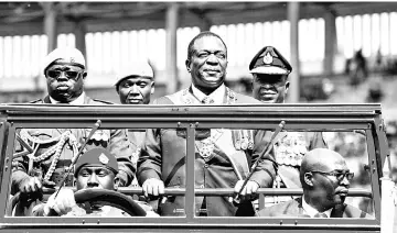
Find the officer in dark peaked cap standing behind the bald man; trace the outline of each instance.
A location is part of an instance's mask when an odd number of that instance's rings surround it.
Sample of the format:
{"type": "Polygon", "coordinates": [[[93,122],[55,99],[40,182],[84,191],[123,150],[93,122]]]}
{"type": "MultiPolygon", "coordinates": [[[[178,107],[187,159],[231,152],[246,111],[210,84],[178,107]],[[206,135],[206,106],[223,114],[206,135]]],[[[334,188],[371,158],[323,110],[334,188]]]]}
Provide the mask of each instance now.
{"type": "MultiPolygon", "coordinates": [[[[249,64],[253,97],[262,103],[283,103],[290,82],[291,65],[276,47],[265,46],[249,64]]],[[[287,122],[288,124],[288,122],[287,122]]],[[[326,147],[321,132],[280,132],[275,143],[278,171],[275,187],[299,188],[299,167],[304,154],[326,147]]],[[[276,197],[280,200],[282,197],[276,197]]],[[[269,199],[268,199],[269,200],[269,199]]],[[[268,201],[267,200],[267,201],[268,201]]],[[[276,202],[278,201],[276,200],[276,202]]]]}

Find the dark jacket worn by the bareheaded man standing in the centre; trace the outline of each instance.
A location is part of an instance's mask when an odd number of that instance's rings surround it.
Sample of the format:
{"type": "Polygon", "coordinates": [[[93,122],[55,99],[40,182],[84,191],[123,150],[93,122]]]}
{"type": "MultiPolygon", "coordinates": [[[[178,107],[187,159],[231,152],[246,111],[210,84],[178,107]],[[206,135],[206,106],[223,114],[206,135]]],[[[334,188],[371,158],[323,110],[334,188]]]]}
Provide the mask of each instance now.
{"type": "MultiPolygon", "coordinates": [[[[234,93],[234,96],[236,98],[235,103],[260,103],[247,96],[238,93],[234,93]]],[[[184,97],[191,101],[191,104],[202,104],[187,89],[174,93],[171,99],[184,97]]],[[[155,100],[154,104],[175,104],[171,99],[163,97],[155,100]]],[[[227,98],[225,97],[225,99],[227,98]]],[[[257,131],[254,135],[254,149],[249,155],[244,153],[243,155],[251,158],[253,162],[256,160],[269,142],[264,140],[265,134],[264,131],[257,131]]],[[[186,140],[181,132],[175,129],[148,130],[144,151],[138,160],[137,177],[140,185],[149,178],[158,178],[164,181],[165,187],[185,187],[186,140]]],[[[251,180],[257,181],[260,187],[271,187],[276,174],[275,166],[272,155],[265,156],[255,170],[251,180]]],[[[221,148],[215,146],[212,157],[208,159],[204,159],[198,153],[195,153],[196,188],[233,188],[237,181],[238,178],[232,164],[221,148]]],[[[227,197],[206,197],[205,201],[202,197],[197,197],[196,210],[201,208],[205,208],[208,215],[235,215],[237,211],[237,208],[228,201],[227,197]]],[[[183,214],[183,197],[169,198],[169,201],[160,207],[160,211],[161,215],[183,214]]]]}

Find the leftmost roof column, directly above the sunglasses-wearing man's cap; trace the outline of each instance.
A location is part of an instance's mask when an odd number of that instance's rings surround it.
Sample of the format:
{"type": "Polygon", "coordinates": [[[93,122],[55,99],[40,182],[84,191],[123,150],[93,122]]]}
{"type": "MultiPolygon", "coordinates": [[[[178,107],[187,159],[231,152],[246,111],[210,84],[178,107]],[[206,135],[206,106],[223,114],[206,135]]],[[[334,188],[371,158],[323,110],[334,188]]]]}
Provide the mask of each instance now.
{"type": "Polygon", "coordinates": [[[57,32],[56,32],[56,8],[54,2],[43,2],[44,9],[44,34],[49,38],[47,53],[56,48],[57,32]]]}

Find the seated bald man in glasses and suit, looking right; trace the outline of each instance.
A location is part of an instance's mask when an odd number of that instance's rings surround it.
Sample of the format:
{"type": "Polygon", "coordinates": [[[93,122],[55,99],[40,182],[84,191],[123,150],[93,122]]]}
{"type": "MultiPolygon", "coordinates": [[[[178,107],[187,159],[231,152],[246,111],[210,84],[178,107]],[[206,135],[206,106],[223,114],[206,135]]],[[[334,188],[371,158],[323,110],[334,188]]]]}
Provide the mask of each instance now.
{"type": "Polygon", "coordinates": [[[328,148],[310,151],[303,158],[300,181],[303,196],[265,208],[259,217],[369,218],[369,214],[344,203],[350,181],[345,159],[328,148]]]}

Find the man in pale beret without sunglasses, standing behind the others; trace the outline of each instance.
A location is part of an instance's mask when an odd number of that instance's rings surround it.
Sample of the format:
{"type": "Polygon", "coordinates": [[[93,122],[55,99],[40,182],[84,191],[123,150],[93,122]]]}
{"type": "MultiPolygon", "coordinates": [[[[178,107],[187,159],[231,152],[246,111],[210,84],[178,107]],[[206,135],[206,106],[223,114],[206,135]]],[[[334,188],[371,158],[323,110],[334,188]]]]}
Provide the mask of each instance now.
{"type": "MultiPolygon", "coordinates": [[[[150,97],[154,93],[153,69],[146,60],[136,62],[121,69],[116,76],[115,86],[121,104],[149,104],[150,97]]],[[[131,162],[137,164],[144,143],[146,129],[129,129],[127,132],[133,151],[131,162]]]]}

